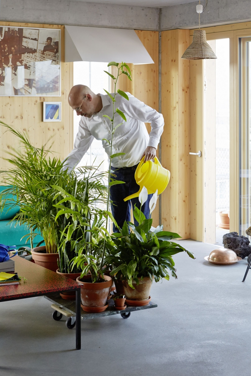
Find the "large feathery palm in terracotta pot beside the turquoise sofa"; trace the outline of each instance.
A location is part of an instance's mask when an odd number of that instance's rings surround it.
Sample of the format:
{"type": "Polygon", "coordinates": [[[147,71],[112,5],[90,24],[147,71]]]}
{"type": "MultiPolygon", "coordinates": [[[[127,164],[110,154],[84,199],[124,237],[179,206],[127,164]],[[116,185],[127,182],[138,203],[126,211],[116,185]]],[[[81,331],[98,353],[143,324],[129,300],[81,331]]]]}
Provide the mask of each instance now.
{"type": "MultiPolygon", "coordinates": [[[[16,196],[13,205],[20,206],[20,213],[15,215],[13,221],[27,224],[30,229],[27,240],[32,241],[37,230],[41,232],[45,246],[31,251],[37,264],[53,271],[59,268],[60,273],[79,273],[77,268],[70,270],[70,261],[77,255],[79,237],[83,233],[87,237],[89,235],[86,232],[87,225],[82,229],[78,226],[78,218],[82,216],[86,219],[88,210],[85,208],[83,212],[77,212],[78,205],[85,201],[87,189],[89,210],[104,202],[107,194],[107,188],[103,184],[105,173],[86,166],[68,174],[62,170],[63,162],[50,156],[50,148],[36,148],[30,144],[25,133],[2,122],[1,124],[20,139],[22,146],[9,153],[11,158],[6,159],[12,167],[8,171],[1,171],[5,182],[11,183],[5,191],[16,196]],[[69,197],[72,198],[71,201],[68,200],[69,197]],[[76,212],[73,217],[67,213],[71,208],[76,212]],[[62,209],[64,215],[61,215],[62,209]],[[71,246],[71,239],[75,241],[74,248],[71,246]]],[[[2,206],[4,205],[5,200],[2,200],[2,206]]]]}

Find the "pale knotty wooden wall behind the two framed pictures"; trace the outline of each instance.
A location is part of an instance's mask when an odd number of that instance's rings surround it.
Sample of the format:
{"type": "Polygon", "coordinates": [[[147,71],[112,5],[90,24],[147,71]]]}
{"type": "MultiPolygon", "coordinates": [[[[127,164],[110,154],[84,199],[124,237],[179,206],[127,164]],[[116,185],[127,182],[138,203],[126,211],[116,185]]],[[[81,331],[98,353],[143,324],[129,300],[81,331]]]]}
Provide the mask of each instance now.
{"type": "MultiPolygon", "coordinates": [[[[64,63],[64,26],[47,24],[28,24],[28,23],[8,23],[0,22],[3,26],[16,27],[39,27],[61,30],[61,96],[60,97],[0,97],[0,120],[16,127],[19,130],[26,130],[30,142],[34,146],[41,147],[42,144],[53,136],[52,150],[56,156],[64,158],[72,150],[73,144],[73,114],[69,110],[67,96],[73,84],[72,63],[64,63]],[[62,121],[46,122],[42,121],[43,102],[53,101],[62,102],[62,121]]],[[[8,167],[5,150],[10,147],[18,147],[18,140],[4,133],[4,127],[1,127],[1,150],[0,150],[0,168],[8,167]]]]}

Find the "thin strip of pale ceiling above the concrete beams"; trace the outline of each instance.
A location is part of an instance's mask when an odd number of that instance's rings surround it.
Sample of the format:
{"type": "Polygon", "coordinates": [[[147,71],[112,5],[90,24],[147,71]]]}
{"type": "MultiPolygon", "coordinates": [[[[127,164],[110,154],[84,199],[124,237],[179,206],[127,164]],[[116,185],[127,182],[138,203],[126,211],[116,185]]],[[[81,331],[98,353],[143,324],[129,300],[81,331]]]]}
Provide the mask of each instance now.
{"type": "Polygon", "coordinates": [[[150,8],[162,8],[163,6],[193,3],[197,0],[77,0],[86,3],[100,3],[113,5],[146,6],[150,8]]]}

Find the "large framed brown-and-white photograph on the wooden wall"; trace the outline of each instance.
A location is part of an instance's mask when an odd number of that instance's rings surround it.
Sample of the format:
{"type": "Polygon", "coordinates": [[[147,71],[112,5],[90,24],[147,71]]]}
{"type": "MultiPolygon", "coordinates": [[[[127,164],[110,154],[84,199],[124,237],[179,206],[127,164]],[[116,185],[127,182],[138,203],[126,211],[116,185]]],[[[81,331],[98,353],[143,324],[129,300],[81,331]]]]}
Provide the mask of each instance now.
{"type": "Polygon", "coordinates": [[[0,26],[0,96],[60,96],[60,30],[0,26]]]}

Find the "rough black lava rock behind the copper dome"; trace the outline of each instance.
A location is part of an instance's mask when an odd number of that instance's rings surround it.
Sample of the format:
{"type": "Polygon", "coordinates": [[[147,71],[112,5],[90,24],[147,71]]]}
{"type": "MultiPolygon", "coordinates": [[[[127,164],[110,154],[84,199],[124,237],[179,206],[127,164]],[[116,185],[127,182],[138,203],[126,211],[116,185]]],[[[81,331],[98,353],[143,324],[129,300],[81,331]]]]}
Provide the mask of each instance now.
{"type": "Polygon", "coordinates": [[[239,236],[237,232],[230,232],[223,235],[223,244],[225,248],[233,250],[237,256],[242,259],[249,256],[251,247],[249,240],[245,236],[239,236]]]}

